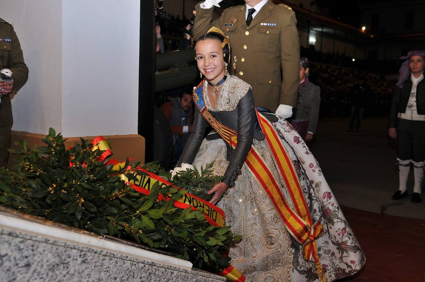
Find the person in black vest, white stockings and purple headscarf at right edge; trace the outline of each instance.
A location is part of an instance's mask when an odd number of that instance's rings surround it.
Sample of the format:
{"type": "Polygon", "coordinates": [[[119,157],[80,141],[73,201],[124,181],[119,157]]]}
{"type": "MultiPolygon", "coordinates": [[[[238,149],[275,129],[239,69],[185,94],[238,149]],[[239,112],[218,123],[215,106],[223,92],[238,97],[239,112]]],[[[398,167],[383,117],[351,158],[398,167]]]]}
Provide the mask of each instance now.
{"type": "Polygon", "coordinates": [[[393,200],[405,198],[410,164],[414,166],[415,184],[411,201],[422,201],[421,184],[425,166],[425,52],[410,51],[400,67],[399,81],[390,108],[388,134],[397,140],[399,152],[399,190],[393,200]]]}

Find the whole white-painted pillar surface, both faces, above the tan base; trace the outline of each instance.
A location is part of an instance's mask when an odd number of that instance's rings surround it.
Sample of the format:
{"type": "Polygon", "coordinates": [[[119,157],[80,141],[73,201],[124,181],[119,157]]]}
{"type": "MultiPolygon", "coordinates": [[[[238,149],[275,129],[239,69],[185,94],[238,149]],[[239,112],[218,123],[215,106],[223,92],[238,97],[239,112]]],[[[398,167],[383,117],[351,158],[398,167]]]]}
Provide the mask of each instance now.
{"type": "Polygon", "coordinates": [[[139,0],[0,0],[29,68],[13,130],[137,134],[139,0]]]}

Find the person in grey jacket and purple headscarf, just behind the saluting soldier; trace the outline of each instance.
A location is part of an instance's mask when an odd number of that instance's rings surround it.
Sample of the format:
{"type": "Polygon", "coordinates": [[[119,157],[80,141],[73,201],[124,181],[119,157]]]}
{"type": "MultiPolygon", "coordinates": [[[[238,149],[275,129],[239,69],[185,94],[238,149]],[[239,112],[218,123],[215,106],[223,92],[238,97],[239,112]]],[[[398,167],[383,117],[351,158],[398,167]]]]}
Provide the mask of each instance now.
{"type": "Polygon", "coordinates": [[[309,71],[309,59],[301,57],[297,108],[294,109],[290,120],[292,126],[306,141],[311,141],[313,134],[316,134],[320,107],[320,87],[309,81],[309,71]]]}

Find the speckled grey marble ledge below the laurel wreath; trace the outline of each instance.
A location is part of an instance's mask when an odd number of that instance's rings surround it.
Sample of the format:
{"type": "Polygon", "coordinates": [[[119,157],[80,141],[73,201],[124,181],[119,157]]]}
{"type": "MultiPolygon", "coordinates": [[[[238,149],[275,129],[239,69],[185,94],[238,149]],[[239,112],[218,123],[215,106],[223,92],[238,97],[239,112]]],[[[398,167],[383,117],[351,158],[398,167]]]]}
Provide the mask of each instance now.
{"type": "Polygon", "coordinates": [[[226,281],[137,244],[0,208],[0,282],[143,279],[226,281]]]}

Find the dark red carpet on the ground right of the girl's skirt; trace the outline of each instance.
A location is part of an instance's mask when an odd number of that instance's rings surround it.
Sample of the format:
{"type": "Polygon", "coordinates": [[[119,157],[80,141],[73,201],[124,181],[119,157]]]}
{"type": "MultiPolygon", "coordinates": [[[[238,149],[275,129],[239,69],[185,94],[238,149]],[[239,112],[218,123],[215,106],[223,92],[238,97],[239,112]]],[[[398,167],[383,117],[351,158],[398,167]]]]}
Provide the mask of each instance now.
{"type": "Polygon", "coordinates": [[[341,209],[365,252],[366,264],[339,281],[425,281],[425,220],[341,209]]]}

